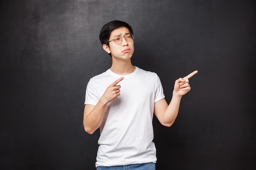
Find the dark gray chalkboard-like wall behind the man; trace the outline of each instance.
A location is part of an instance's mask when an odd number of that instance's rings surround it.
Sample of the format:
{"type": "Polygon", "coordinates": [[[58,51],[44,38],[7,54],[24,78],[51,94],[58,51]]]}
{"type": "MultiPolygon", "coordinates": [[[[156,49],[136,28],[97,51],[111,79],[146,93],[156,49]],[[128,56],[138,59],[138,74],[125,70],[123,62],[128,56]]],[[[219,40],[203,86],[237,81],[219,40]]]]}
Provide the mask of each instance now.
{"type": "Polygon", "coordinates": [[[154,118],[157,170],[256,169],[253,0],[5,0],[0,27],[0,169],[93,170],[99,131],[83,130],[90,77],[111,58],[98,35],[134,29],[132,63],[175,79],[198,69],[171,128],[154,118]]]}

